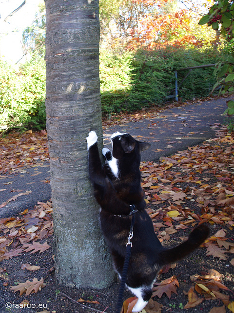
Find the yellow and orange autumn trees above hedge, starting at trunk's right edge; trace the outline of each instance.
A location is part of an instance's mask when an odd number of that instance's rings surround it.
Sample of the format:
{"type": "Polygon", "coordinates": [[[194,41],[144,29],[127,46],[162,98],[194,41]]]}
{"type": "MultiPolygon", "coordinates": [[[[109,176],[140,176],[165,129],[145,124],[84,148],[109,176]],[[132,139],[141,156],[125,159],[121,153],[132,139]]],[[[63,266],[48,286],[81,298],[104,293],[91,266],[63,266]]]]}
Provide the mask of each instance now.
{"type": "Polygon", "coordinates": [[[100,8],[105,30],[101,43],[105,48],[108,43],[111,48],[127,50],[201,46],[215,38],[209,30],[207,35],[207,28],[201,33],[194,11],[185,6],[182,9],[176,0],[120,0],[112,4],[101,0],[100,8]],[[107,11],[109,7],[111,13],[107,11]]]}

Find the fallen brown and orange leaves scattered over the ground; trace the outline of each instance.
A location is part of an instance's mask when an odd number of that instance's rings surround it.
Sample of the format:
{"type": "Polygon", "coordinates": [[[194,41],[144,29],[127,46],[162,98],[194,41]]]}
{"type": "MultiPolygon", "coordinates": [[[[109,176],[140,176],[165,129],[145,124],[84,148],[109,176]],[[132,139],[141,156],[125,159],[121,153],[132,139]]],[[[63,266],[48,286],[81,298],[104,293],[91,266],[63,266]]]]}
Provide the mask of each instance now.
{"type": "MultiPolygon", "coordinates": [[[[188,273],[190,279],[187,278],[188,275],[185,278],[185,274],[181,272],[173,274],[176,265],[161,270],[161,274],[168,275],[168,278],[162,280],[160,275],[158,276],[154,298],[145,308],[147,313],[172,311],[168,303],[176,303],[177,298],[181,299],[181,291],[184,294],[184,309],[202,309],[203,305],[208,303],[205,305],[208,311],[205,312],[215,313],[216,309],[234,312],[234,297],[231,291],[234,287],[234,238],[231,235],[234,227],[234,139],[227,134],[225,128],[217,129],[216,132],[216,138],[189,147],[186,151],[178,151],[173,156],[162,157],[159,162],[141,162],[147,211],[159,240],[165,246],[170,246],[171,242],[173,245],[182,242],[189,230],[198,224],[208,223],[212,229],[210,238],[202,245],[204,252],[199,271],[193,272],[193,266],[196,267],[193,258],[189,259],[189,263],[192,262],[188,273]],[[208,268],[209,266],[211,268],[208,268]],[[220,269],[222,273],[219,273],[220,269]],[[225,276],[226,270],[228,274],[225,276]],[[227,284],[229,287],[226,287],[227,284]],[[183,289],[183,285],[187,290],[183,289]],[[221,303],[223,306],[220,306],[221,303]]],[[[5,144],[5,150],[0,156],[0,175],[10,175],[23,170],[21,168],[24,165],[33,166],[38,160],[48,160],[45,132],[29,131],[23,135],[14,134],[12,138],[9,134],[0,140],[5,144]],[[14,151],[13,147],[17,150],[14,151]]],[[[47,238],[53,236],[52,212],[51,202],[39,202],[31,210],[26,209],[16,217],[0,221],[0,260],[4,262],[4,266],[13,258],[28,253],[36,256],[50,251],[47,238]]],[[[50,254],[52,258],[52,252],[50,254]]],[[[6,268],[0,268],[6,291],[12,290],[16,294],[20,291],[21,298],[24,294],[28,296],[46,290],[42,288],[46,287],[46,279],[51,277],[53,269],[47,268],[44,277],[33,277],[40,268],[36,259],[31,259],[34,262],[23,266],[23,270],[32,273],[31,279],[21,281],[19,278],[16,286],[13,286],[12,281],[7,282],[5,279],[6,268]]],[[[78,299],[95,306],[93,308],[97,308],[99,303],[97,300],[84,300],[81,296],[78,299]]],[[[180,312],[178,303],[173,304],[173,308],[175,305],[176,312],[180,312]]],[[[107,307],[104,309],[109,312],[107,307]]],[[[98,309],[93,310],[101,312],[98,309]]]]}

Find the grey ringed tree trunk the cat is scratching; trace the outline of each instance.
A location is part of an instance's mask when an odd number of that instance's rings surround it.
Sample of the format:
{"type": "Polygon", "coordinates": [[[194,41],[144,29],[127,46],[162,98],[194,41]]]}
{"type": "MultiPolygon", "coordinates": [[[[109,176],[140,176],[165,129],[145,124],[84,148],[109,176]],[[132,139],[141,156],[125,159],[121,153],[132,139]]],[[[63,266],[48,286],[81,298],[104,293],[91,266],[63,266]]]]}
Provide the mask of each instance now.
{"type": "Polygon", "coordinates": [[[98,0],[45,4],[56,276],[63,286],[102,289],[114,274],[88,179],[86,144],[89,130],[102,134],[98,0]]]}

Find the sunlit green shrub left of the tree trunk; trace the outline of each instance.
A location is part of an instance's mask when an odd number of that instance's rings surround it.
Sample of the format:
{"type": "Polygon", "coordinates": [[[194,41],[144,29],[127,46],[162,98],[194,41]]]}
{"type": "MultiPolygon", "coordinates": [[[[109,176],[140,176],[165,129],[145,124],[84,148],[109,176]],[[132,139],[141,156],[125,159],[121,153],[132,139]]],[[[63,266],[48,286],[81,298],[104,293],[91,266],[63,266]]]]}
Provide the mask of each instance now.
{"type": "Polygon", "coordinates": [[[0,61],[0,130],[45,128],[45,63],[31,60],[20,68],[0,61]]]}

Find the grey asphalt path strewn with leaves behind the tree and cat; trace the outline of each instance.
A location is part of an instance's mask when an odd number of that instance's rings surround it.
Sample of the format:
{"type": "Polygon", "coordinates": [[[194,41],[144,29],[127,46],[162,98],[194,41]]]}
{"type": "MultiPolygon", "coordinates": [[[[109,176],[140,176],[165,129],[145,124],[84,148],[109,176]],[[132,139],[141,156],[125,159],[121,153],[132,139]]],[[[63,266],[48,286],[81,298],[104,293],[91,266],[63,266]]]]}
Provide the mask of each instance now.
{"type": "MultiPolygon", "coordinates": [[[[151,143],[151,148],[142,152],[143,161],[158,161],[161,156],[170,156],[214,138],[215,129],[224,122],[227,100],[210,100],[167,109],[139,121],[121,121],[117,126],[103,129],[104,146],[111,147],[110,135],[114,132],[129,133],[138,140],[151,143]]],[[[5,189],[0,192],[0,218],[14,216],[51,197],[48,162],[39,161],[31,168],[22,167],[16,172],[0,179],[0,190],[5,189]]]]}

